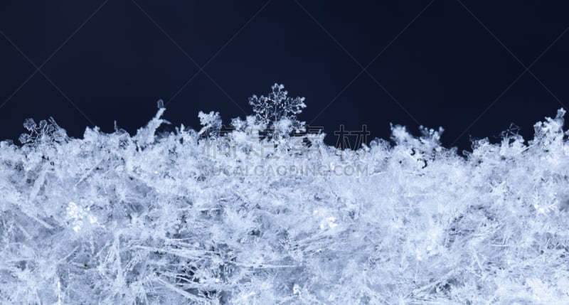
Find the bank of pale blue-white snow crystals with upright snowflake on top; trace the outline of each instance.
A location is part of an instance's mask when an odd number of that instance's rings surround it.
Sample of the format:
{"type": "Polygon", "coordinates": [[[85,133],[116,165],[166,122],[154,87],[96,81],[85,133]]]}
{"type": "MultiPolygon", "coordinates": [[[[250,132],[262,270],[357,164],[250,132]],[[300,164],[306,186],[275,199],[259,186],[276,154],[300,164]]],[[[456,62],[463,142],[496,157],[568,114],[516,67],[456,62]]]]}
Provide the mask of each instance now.
{"type": "Polygon", "coordinates": [[[324,144],[282,85],[223,128],[0,142],[1,304],[569,304],[569,142],[324,144]],[[304,131],[304,132],[303,132],[304,131]]]}

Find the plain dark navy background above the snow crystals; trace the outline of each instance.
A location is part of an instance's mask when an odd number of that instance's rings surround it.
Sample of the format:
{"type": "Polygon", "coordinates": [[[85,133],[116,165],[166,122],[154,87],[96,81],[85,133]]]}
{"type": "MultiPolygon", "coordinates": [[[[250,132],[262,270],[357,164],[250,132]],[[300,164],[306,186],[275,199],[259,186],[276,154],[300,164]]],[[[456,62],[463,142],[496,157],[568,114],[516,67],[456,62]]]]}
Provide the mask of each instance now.
{"type": "Polygon", "coordinates": [[[459,150],[470,137],[495,141],[512,122],[528,139],[536,121],[569,105],[568,9],[561,1],[2,1],[0,139],[16,140],[26,117],[50,116],[73,137],[92,124],[111,132],[115,119],[134,134],[159,99],[176,125],[198,129],[199,110],[228,123],[274,82],[306,97],[299,118],[323,126],[330,143],[339,124],[367,124],[371,138],[387,139],[390,122],[415,134],[419,124],[442,126],[443,144],[459,150]]]}

